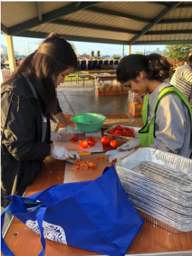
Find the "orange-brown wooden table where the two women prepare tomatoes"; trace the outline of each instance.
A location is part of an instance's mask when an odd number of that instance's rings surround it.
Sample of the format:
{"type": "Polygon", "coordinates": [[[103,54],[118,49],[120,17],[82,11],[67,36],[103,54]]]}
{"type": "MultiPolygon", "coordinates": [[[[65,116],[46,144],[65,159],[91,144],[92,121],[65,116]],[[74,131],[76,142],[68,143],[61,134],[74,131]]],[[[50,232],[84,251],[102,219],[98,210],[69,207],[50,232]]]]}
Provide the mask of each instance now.
{"type": "MultiPolygon", "coordinates": [[[[70,118],[70,116],[71,115],[68,115],[66,117],[70,118]]],[[[123,118],[126,118],[126,115],[122,116],[123,118]]],[[[120,115],[113,115],[113,118],[118,120],[120,115]]],[[[42,170],[27,189],[25,196],[45,190],[51,185],[64,183],[64,175],[65,162],[53,159],[52,157],[46,157],[42,170]]],[[[144,253],[154,255],[154,253],[181,252],[182,255],[185,255],[185,251],[186,255],[189,256],[192,255],[191,241],[192,231],[176,235],[169,233],[160,227],[154,227],[151,222],[146,220],[143,228],[133,240],[127,254],[137,254],[138,256],[139,254],[144,253]],[[187,254],[187,251],[190,252],[187,254]]],[[[9,248],[16,256],[35,256],[38,255],[38,253],[40,253],[42,250],[40,237],[16,218],[14,218],[12,221],[8,233],[5,236],[5,243],[8,244],[9,248]]],[[[1,255],[3,254],[1,253],[1,255]]],[[[92,251],[75,248],[73,246],[59,244],[51,240],[46,240],[45,255],[68,256],[99,254],[92,251]]]]}

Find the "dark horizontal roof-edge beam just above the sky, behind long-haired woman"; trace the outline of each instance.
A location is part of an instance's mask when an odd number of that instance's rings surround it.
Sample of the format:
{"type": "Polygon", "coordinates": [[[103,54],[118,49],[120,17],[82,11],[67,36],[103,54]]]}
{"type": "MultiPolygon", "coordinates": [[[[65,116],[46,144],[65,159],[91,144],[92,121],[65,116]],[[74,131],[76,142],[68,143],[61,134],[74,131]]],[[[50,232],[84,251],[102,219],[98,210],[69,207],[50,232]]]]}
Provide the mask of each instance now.
{"type": "MultiPolygon", "coordinates": [[[[16,36],[24,36],[29,38],[46,38],[48,34],[43,32],[35,32],[35,31],[23,31],[17,34],[16,36]]],[[[102,44],[128,44],[128,41],[123,40],[113,40],[113,39],[105,39],[105,38],[90,38],[87,36],[69,36],[62,35],[66,40],[70,41],[78,41],[78,42],[99,42],[102,44]]]]}

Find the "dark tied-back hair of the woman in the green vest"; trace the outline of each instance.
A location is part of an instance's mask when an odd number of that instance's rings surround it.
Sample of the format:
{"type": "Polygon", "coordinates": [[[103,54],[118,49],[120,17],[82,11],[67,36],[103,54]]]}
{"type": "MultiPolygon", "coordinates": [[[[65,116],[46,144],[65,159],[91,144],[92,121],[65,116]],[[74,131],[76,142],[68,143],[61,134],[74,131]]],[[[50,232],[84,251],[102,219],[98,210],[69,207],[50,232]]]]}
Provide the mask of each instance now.
{"type": "Polygon", "coordinates": [[[120,61],[117,68],[117,77],[120,82],[126,82],[131,79],[137,81],[137,75],[141,71],[145,71],[146,78],[149,80],[163,81],[169,77],[169,69],[168,60],[160,54],[131,54],[120,61]]]}

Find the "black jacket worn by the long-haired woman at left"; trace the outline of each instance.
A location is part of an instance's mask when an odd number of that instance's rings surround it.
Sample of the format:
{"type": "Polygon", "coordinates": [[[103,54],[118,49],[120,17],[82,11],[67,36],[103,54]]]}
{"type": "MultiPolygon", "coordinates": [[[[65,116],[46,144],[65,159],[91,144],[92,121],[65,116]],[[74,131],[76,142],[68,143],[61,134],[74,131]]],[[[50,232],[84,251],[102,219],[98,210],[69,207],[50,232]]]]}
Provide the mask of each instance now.
{"type": "Polygon", "coordinates": [[[22,195],[50,154],[50,121],[44,142],[42,122],[40,102],[22,74],[1,86],[1,198],[22,195]]]}

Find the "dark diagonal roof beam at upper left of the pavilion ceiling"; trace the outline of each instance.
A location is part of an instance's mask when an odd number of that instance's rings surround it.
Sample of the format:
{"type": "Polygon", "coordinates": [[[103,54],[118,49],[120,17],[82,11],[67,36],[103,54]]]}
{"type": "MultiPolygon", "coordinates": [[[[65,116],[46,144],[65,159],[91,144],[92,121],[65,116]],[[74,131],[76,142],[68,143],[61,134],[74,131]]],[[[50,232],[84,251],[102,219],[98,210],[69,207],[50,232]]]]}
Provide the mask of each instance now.
{"type": "Polygon", "coordinates": [[[74,7],[74,3],[70,3],[69,5],[66,5],[62,8],[59,8],[59,9],[54,10],[52,12],[48,12],[46,14],[43,14],[42,15],[42,21],[39,21],[38,18],[31,18],[31,20],[29,20],[29,21],[25,21],[23,23],[20,23],[18,25],[10,27],[8,29],[8,33],[10,35],[16,35],[16,34],[22,32],[22,31],[25,31],[27,29],[31,29],[31,27],[36,27],[36,26],[41,25],[43,23],[53,21],[53,20],[55,20],[55,18],[60,18],[62,16],[71,14],[73,12],[77,12],[78,10],[87,8],[87,7],[89,7],[91,5],[94,5],[96,3],[99,3],[99,2],[85,2],[85,1],[83,1],[81,3],[81,5],[77,8],[74,7]]]}

